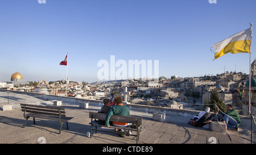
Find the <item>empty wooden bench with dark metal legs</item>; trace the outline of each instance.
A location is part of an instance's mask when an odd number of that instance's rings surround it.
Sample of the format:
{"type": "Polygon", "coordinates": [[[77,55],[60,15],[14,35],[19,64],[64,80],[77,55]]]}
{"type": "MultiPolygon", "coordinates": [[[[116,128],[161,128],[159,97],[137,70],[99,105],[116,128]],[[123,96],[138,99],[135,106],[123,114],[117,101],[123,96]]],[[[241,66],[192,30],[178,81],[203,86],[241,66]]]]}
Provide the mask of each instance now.
{"type": "Polygon", "coordinates": [[[20,104],[22,111],[24,111],[23,117],[26,119],[24,127],[26,127],[27,119],[33,117],[34,124],[35,118],[43,118],[50,120],[58,120],[60,123],[60,131],[64,122],[67,122],[68,130],[68,120],[71,120],[73,117],[66,117],[64,107],[56,106],[40,106],[40,105],[29,105],[29,104],[20,104]]]}

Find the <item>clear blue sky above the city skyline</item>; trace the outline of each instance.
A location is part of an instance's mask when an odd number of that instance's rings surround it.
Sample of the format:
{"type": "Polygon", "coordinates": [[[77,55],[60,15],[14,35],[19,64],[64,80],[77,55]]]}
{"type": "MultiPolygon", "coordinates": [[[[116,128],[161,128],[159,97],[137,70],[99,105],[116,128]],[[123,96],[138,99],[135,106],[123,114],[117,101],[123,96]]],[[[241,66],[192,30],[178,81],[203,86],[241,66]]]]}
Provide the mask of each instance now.
{"type": "MultiPolygon", "coordinates": [[[[98,81],[98,61],[159,60],[159,76],[249,74],[249,54],[214,60],[213,44],[256,27],[255,0],[3,0],[0,81],[98,81]]],[[[255,31],[254,31],[255,32],[255,31]]],[[[251,62],[256,58],[252,39],[251,62]]],[[[116,67],[118,69],[118,67],[116,67]]]]}

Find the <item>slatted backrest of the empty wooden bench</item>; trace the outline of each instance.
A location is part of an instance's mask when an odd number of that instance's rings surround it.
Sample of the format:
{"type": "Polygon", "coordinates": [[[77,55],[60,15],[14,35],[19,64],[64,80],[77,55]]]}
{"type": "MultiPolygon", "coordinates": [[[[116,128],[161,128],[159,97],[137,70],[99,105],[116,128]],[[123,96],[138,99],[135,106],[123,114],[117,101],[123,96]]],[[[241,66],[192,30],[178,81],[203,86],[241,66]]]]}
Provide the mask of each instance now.
{"type": "Polygon", "coordinates": [[[64,107],[28,105],[28,104],[20,104],[20,106],[22,111],[26,113],[66,117],[64,107]]]}

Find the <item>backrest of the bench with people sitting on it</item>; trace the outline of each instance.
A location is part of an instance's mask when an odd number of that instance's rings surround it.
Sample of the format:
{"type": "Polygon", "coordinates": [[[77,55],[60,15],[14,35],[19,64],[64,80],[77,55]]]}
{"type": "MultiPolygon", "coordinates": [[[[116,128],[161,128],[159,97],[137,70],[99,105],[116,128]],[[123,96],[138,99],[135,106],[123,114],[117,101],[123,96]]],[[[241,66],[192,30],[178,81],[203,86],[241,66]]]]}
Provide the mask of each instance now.
{"type": "MultiPolygon", "coordinates": [[[[106,119],[106,114],[104,113],[96,113],[96,112],[89,112],[89,118],[94,119],[106,119]]],[[[142,118],[139,117],[127,117],[127,116],[121,116],[121,115],[112,115],[109,119],[110,121],[114,122],[122,122],[122,123],[133,123],[133,124],[142,124],[142,118]]]]}

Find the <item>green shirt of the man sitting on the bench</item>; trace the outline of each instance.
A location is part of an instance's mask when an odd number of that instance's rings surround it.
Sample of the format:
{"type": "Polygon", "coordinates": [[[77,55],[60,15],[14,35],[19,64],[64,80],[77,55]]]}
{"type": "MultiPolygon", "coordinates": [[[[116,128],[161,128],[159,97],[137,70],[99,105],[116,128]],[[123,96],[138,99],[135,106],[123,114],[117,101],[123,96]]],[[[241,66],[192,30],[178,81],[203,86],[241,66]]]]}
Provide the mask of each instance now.
{"type": "Polygon", "coordinates": [[[122,115],[122,116],[130,116],[130,110],[125,105],[116,105],[113,106],[108,114],[106,114],[106,126],[109,126],[109,119],[112,115],[122,115]]]}

